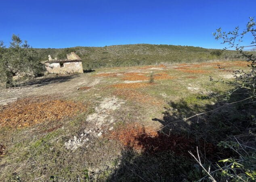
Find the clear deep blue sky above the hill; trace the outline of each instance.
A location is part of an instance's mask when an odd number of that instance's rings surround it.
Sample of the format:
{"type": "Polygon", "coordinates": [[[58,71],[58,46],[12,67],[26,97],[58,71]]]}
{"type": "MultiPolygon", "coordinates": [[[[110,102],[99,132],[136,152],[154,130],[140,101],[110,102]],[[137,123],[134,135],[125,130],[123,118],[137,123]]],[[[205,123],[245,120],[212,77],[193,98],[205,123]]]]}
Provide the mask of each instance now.
{"type": "MultiPolygon", "coordinates": [[[[244,28],[254,0],[2,0],[0,40],[36,48],[171,44],[222,48],[217,28],[244,28]]],[[[249,38],[245,44],[249,44],[249,38]]]]}

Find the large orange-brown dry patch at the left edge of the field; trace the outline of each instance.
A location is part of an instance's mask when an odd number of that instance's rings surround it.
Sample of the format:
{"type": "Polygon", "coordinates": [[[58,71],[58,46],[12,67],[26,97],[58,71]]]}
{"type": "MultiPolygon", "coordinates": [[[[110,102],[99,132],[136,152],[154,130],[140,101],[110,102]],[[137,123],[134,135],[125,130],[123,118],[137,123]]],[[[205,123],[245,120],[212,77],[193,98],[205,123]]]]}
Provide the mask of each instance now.
{"type": "Polygon", "coordinates": [[[24,128],[48,120],[72,117],[84,110],[82,103],[73,101],[51,100],[50,97],[24,98],[3,107],[0,126],[24,128]]]}

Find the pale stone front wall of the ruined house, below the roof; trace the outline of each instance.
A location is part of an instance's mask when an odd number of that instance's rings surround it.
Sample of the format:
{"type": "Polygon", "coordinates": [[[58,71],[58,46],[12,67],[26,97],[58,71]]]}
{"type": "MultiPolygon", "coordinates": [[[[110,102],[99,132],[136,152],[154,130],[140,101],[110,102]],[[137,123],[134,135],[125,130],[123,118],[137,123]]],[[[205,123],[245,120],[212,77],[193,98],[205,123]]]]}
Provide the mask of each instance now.
{"type": "Polygon", "coordinates": [[[66,61],[63,62],[63,67],[59,62],[45,63],[46,70],[49,73],[67,74],[67,73],[83,73],[82,61],[66,61]]]}

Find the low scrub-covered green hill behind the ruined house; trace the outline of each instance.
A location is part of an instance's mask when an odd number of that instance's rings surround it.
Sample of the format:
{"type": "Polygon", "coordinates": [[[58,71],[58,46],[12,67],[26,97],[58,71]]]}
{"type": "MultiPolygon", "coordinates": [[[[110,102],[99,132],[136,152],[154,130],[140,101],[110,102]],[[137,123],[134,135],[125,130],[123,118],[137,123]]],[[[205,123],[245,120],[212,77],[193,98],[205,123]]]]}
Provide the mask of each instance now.
{"type": "MultiPolygon", "coordinates": [[[[234,59],[235,51],[180,45],[111,45],[105,47],[72,47],[65,49],[37,49],[42,60],[48,55],[63,58],[66,53],[76,52],[83,60],[84,69],[112,66],[151,65],[158,63],[201,62],[214,59],[234,59]]],[[[237,58],[236,58],[237,59],[237,58]]]]}

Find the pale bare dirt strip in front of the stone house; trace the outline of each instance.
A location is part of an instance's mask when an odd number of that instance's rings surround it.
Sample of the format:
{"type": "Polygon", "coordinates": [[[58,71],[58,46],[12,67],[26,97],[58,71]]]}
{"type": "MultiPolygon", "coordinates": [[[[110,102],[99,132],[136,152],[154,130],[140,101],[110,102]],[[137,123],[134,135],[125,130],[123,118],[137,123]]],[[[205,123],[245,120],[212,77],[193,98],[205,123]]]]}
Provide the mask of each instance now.
{"type": "Polygon", "coordinates": [[[58,95],[60,97],[76,96],[77,88],[99,84],[99,78],[88,75],[62,75],[38,78],[23,82],[14,88],[0,88],[0,106],[15,102],[27,96],[58,95]]]}

